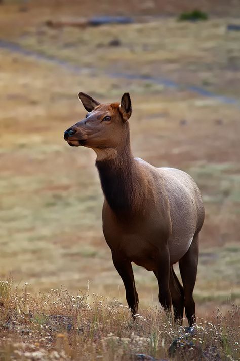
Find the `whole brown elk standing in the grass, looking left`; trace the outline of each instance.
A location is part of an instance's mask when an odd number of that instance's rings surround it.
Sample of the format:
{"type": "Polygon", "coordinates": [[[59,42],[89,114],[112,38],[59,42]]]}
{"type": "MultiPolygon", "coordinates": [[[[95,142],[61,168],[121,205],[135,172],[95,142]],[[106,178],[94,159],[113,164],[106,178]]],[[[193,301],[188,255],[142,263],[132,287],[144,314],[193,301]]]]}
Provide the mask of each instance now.
{"type": "Polygon", "coordinates": [[[175,168],[156,168],[134,158],[130,147],[129,93],[121,103],[100,104],[78,94],[86,117],[68,128],[70,146],[96,152],[104,204],[103,234],[113,264],[121,276],[132,316],[138,310],[131,262],[153,271],[159,286],[159,302],[182,324],[183,312],[195,323],[193,288],[198,263],[198,234],[204,222],[201,193],[194,180],[175,168]],[[173,265],[179,263],[182,284],[173,265]]]}

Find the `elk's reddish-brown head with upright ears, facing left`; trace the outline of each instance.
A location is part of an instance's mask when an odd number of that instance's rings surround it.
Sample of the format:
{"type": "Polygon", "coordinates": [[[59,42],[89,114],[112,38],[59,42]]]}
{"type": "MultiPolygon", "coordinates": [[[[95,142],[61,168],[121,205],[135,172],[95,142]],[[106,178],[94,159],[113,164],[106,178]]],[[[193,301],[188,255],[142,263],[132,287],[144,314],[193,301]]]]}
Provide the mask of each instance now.
{"type": "Polygon", "coordinates": [[[64,139],[72,147],[83,145],[95,150],[101,157],[117,152],[129,133],[128,119],[132,114],[129,93],[124,93],[121,103],[100,104],[85,93],[78,94],[85,118],[65,130],[64,139]]]}

